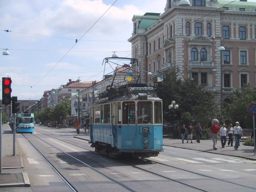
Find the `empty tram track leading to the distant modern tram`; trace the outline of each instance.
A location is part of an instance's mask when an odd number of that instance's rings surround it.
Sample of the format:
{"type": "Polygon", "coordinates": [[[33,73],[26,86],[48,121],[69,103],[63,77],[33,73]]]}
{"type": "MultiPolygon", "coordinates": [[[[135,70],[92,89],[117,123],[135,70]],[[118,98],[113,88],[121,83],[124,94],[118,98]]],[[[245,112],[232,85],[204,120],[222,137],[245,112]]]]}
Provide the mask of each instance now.
{"type": "MultiPolygon", "coordinates": [[[[43,133],[43,134],[44,134],[44,133],[43,133]]],[[[23,135],[23,137],[26,138],[26,140],[28,140],[28,138],[27,138],[23,133],[22,133],[22,135],[23,135]]],[[[45,134],[45,135],[47,135],[47,134],[45,134]]],[[[72,155],[66,153],[65,151],[63,151],[63,150],[61,150],[61,149],[59,149],[59,148],[53,146],[52,144],[50,144],[50,143],[44,141],[43,139],[37,137],[36,135],[33,135],[33,136],[35,136],[35,137],[38,138],[39,140],[42,140],[43,142],[45,142],[46,144],[50,145],[51,147],[53,147],[53,148],[55,148],[55,149],[61,151],[61,152],[64,153],[65,155],[67,155],[67,156],[69,156],[69,157],[75,159],[76,161],[78,161],[78,162],[84,164],[84,165],[87,166],[88,168],[91,168],[92,170],[98,172],[98,173],[101,174],[102,176],[104,176],[104,177],[108,178],[109,180],[115,182],[116,184],[118,184],[118,185],[124,187],[125,189],[127,189],[127,190],[129,190],[129,191],[132,191],[132,192],[137,192],[137,191],[133,190],[132,188],[129,188],[128,186],[124,185],[123,183],[121,183],[121,182],[119,182],[119,181],[113,179],[112,177],[106,175],[105,173],[101,172],[100,170],[98,170],[98,169],[96,169],[96,168],[90,166],[89,164],[84,163],[83,161],[77,159],[76,157],[74,157],[74,156],[72,156],[72,155]]],[[[48,136],[49,136],[49,135],[48,135],[48,136]]],[[[36,151],[43,157],[43,159],[52,167],[52,169],[61,177],[62,180],[64,180],[65,183],[67,183],[67,185],[68,185],[74,192],[79,192],[79,191],[78,191],[78,190],[77,190],[77,189],[76,189],[76,188],[75,188],[75,187],[74,187],[57,169],[56,169],[56,167],[54,167],[54,165],[53,165],[53,164],[52,164],[52,163],[51,163],[51,162],[50,162],[33,144],[32,144],[32,142],[31,142],[30,140],[28,140],[28,142],[36,149],[36,151]]]]}

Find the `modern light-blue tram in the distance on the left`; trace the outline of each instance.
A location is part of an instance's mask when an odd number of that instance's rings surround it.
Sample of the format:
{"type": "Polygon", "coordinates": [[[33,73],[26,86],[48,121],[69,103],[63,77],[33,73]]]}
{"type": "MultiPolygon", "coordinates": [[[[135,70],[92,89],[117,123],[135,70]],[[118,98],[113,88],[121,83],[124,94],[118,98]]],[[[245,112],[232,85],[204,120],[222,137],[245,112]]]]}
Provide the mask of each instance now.
{"type": "Polygon", "coordinates": [[[34,132],[34,114],[33,113],[18,113],[17,114],[17,132],[18,133],[33,133],[34,132]]]}

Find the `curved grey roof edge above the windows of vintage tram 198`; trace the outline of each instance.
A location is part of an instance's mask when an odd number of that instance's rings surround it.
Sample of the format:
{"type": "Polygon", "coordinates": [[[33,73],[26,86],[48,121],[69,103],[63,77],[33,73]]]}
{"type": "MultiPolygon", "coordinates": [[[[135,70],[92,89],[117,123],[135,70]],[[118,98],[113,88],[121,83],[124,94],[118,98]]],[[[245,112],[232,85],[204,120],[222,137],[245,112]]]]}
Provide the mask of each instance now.
{"type": "MultiPolygon", "coordinates": [[[[123,100],[140,100],[140,101],[147,101],[147,100],[158,100],[158,101],[162,101],[162,99],[158,98],[158,97],[153,97],[153,95],[147,95],[147,99],[140,99],[139,98],[139,95],[138,94],[132,94],[132,95],[124,95],[124,96],[121,96],[121,97],[117,97],[117,98],[114,98],[112,100],[104,100],[102,102],[97,102],[97,103],[94,103],[93,105],[99,105],[99,104],[102,104],[102,103],[110,103],[110,102],[115,102],[115,101],[123,101],[123,100]]],[[[96,100],[97,101],[97,100],[96,100]]]]}

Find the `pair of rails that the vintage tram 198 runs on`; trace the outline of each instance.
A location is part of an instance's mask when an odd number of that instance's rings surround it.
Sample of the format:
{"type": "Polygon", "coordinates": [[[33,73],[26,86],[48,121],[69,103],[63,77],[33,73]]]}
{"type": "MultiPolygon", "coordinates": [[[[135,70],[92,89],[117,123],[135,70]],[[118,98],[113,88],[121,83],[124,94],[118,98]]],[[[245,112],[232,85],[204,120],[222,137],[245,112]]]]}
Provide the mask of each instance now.
{"type": "MultiPolygon", "coordinates": [[[[39,132],[39,131],[37,131],[37,132],[39,132]]],[[[46,132],[46,131],[44,131],[44,132],[46,132]]],[[[42,133],[42,132],[40,132],[40,133],[42,133]]],[[[55,138],[55,139],[57,139],[57,140],[61,140],[61,139],[58,139],[58,138],[56,138],[56,137],[53,137],[53,136],[48,135],[48,134],[45,134],[45,133],[42,133],[42,134],[47,135],[47,136],[52,137],[52,138],[55,138]]],[[[64,137],[64,136],[62,136],[62,135],[60,135],[60,136],[63,137],[63,138],[66,138],[66,139],[70,139],[70,138],[64,137]]],[[[70,139],[70,140],[74,140],[74,139],[70,139]]],[[[70,143],[70,142],[68,142],[68,141],[64,141],[64,140],[61,140],[61,141],[76,146],[75,144],[70,143]]],[[[76,140],[76,141],[79,141],[79,140],[76,140]]],[[[84,143],[83,141],[79,141],[79,142],[84,143]]],[[[76,147],[77,147],[77,146],[76,146],[76,147]]],[[[98,155],[103,156],[102,154],[99,154],[99,153],[95,152],[94,150],[91,150],[91,149],[88,149],[88,148],[84,148],[84,147],[80,147],[80,146],[79,146],[79,148],[83,148],[83,149],[89,150],[89,151],[91,151],[91,152],[93,152],[93,153],[96,153],[96,154],[98,154],[98,155]]],[[[107,156],[104,156],[104,157],[109,158],[109,157],[107,157],[107,156]]],[[[112,158],[111,158],[111,159],[112,159],[112,158]]],[[[196,174],[196,175],[199,175],[199,176],[202,176],[202,177],[206,177],[206,178],[210,178],[210,179],[214,179],[214,180],[219,180],[219,181],[222,181],[222,182],[228,182],[228,183],[230,183],[230,184],[238,185],[238,186],[241,186],[241,187],[244,187],[244,188],[250,188],[250,189],[256,190],[256,188],[254,188],[254,187],[242,185],[242,184],[239,184],[239,183],[234,183],[234,182],[232,182],[232,181],[222,180],[222,179],[219,179],[219,178],[216,178],[216,177],[212,177],[212,176],[204,175],[204,174],[201,174],[201,173],[197,173],[197,172],[185,170],[185,169],[182,169],[182,168],[179,168],[179,167],[176,167],[176,166],[172,166],[172,165],[160,163],[160,162],[157,162],[157,161],[154,161],[154,160],[149,160],[149,159],[145,159],[145,158],[142,158],[142,160],[147,161],[147,162],[151,162],[151,163],[161,164],[161,165],[168,166],[168,167],[172,167],[172,168],[174,168],[174,169],[178,169],[178,170],[181,170],[181,171],[189,172],[189,173],[196,174]]],[[[138,160],[138,161],[141,163],[140,160],[138,160]]],[[[194,186],[188,185],[188,184],[183,183],[183,182],[180,182],[180,181],[178,181],[178,180],[175,180],[175,179],[166,177],[166,176],[164,176],[164,175],[160,175],[160,174],[155,173],[155,172],[151,172],[151,171],[149,171],[149,170],[147,170],[147,169],[143,169],[143,168],[138,167],[138,166],[136,166],[136,165],[133,165],[133,164],[130,164],[130,163],[127,163],[127,162],[124,162],[124,161],[121,161],[121,162],[124,163],[124,164],[127,164],[127,165],[129,165],[129,166],[132,166],[132,167],[134,167],[134,168],[137,168],[137,169],[139,169],[139,170],[141,170],[141,171],[145,171],[145,172],[154,174],[154,175],[156,175],[156,176],[162,177],[162,178],[164,178],[164,179],[167,179],[167,180],[171,180],[171,181],[173,181],[173,182],[180,183],[180,184],[185,185],[185,186],[187,186],[187,187],[194,188],[194,189],[197,189],[197,190],[199,190],[199,191],[205,191],[204,189],[196,188],[196,187],[194,187],[194,186]]]]}

